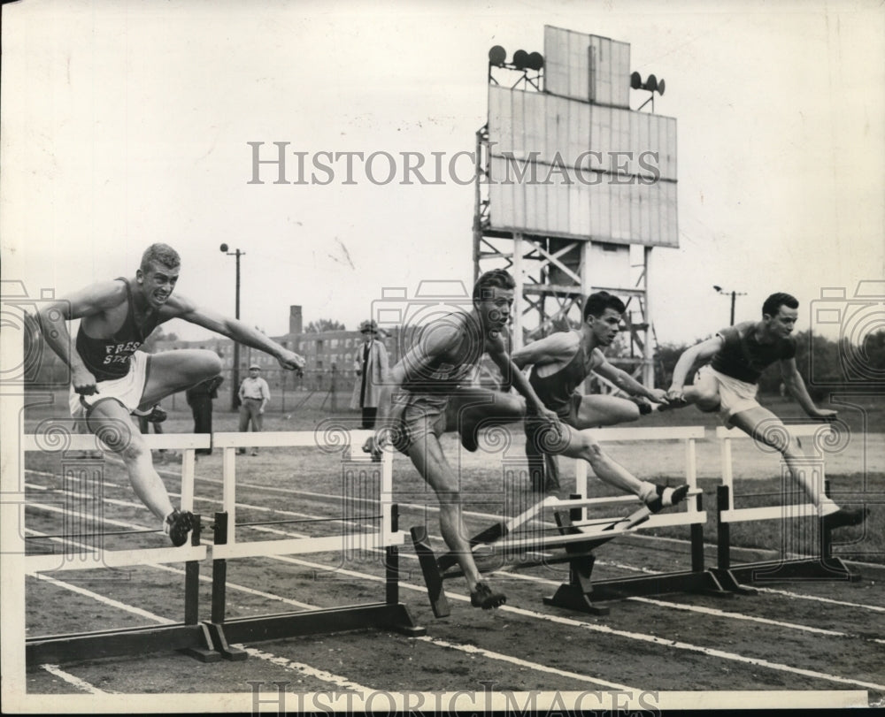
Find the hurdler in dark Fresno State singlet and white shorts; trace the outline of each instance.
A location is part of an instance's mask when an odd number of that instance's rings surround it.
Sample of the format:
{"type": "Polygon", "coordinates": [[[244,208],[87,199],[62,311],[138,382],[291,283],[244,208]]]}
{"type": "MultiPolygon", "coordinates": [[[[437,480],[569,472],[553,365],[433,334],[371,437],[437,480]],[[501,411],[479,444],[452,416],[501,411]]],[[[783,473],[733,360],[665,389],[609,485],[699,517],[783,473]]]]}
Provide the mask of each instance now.
{"type": "Polygon", "coordinates": [[[217,376],[221,362],[213,351],[202,349],[147,355],[138,350],[144,340],[159,324],[181,318],[265,351],[284,369],[304,366],[301,356],[263,333],[173,295],[180,271],[181,258],[172,247],[152,244],[135,277],[86,286],[48,303],[39,313],[46,342],[71,369],[72,415],[85,418],[89,430],[119,454],[136,495],[162,521],[176,546],[187,541],[193,515],[173,508],[150,450],[129,416],[148,414],[166,396],[217,376]],[[73,344],[66,322],[78,318],[80,330],[73,344]]]}

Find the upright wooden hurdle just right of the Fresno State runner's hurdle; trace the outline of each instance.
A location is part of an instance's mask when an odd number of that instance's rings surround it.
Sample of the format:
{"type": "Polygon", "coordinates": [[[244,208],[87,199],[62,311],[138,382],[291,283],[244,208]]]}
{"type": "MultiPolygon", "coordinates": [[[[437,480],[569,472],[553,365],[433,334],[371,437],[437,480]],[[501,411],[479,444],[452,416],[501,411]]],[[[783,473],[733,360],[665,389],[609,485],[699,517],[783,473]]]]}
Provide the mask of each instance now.
{"type": "MultiPolygon", "coordinates": [[[[222,454],[223,510],[215,514],[214,545],[212,547],[212,622],[208,628],[219,652],[227,660],[244,660],[245,652],[231,647],[231,643],[279,639],[351,629],[392,629],[417,637],[426,634],[412,620],[408,608],[399,601],[399,553],[405,533],[398,528],[396,504],[393,503],[393,455],[385,451],[381,461],[363,454],[360,446],[373,431],[334,431],[333,437],[322,431],[287,431],[259,433],[216,433],[214,446],[222,454]],[[331,439],[331,442],[329,442],[331,439]],[[287,538],[282,540],[242,542],[236,531],[236,451],[248,446],[260,447],[314,447],[340,454],[342,474],[348,471],[372,471],[380,474],[381,507],[380,530],[347,536],[363,549],[383,548],[385,551],[386,591],[383,602],[351,605],[317,610],[227,619],[225,616],[227,561],[273,555],[331,553],[342,551],[347,545],[342,536],[322,538],[287,538]]],[[[346,520],[342,516],[342,520],[346,520]]]]}

